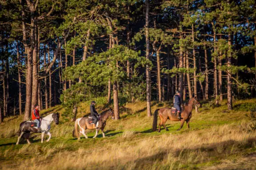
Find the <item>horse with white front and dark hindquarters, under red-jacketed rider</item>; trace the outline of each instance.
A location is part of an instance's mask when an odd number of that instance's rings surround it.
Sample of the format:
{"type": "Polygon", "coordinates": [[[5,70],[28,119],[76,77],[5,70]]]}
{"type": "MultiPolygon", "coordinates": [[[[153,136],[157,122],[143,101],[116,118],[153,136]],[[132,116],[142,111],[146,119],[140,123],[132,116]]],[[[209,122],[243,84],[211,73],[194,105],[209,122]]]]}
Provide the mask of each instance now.
{"type": "Polygon", "coordinates": [[[27,139],[28,144],[30,144],[30,141],[28,140],[30,132],[42,133],[41,143],[43,143],[44,134],[46,133],[49,136],[49,138],[46,140],[46,142],[49,142],[49,140],[52,137],[52,134],[50,133],[51,123],[52,123],[52,121],[54,121],[55,124],[59,124],[59,117],[60,117],[60,114],[58,112],[51,113],[51,114],[43,117],[42,121],[41,121],[41,126],[39,129],[32,127],[33,125],[36,124],[35,122],[32,122],[32,121],[22,122],[20,124],[20,129],[17,132],[18,133],[18,141],[17,141],[16,145],[19,144],[21,137],[23,137],[24,139],[27,139]]]}

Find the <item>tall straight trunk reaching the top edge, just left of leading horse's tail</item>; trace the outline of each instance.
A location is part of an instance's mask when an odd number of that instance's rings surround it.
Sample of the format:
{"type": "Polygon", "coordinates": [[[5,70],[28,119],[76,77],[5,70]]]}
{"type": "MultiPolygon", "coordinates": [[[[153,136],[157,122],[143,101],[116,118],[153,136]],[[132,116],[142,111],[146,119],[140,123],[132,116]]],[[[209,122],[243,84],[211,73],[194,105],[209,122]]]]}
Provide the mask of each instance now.
{"type": "MultiPolygon", "coordinates": [[[[148,21],[148,13],[149,13],[149,0],[146,0],[146,24],[145,24],[145,29],[146,29],[146,59],[149,60],[149,33],[148,33],[148,26],[149,26],[149,21],[148,21]]],[[[148,64],[146,65],[146,84],[147,84],[147,116],[151,116],[151,104],[150,104],[150,71],[149,71],[149,66],[148,64]]]]}

